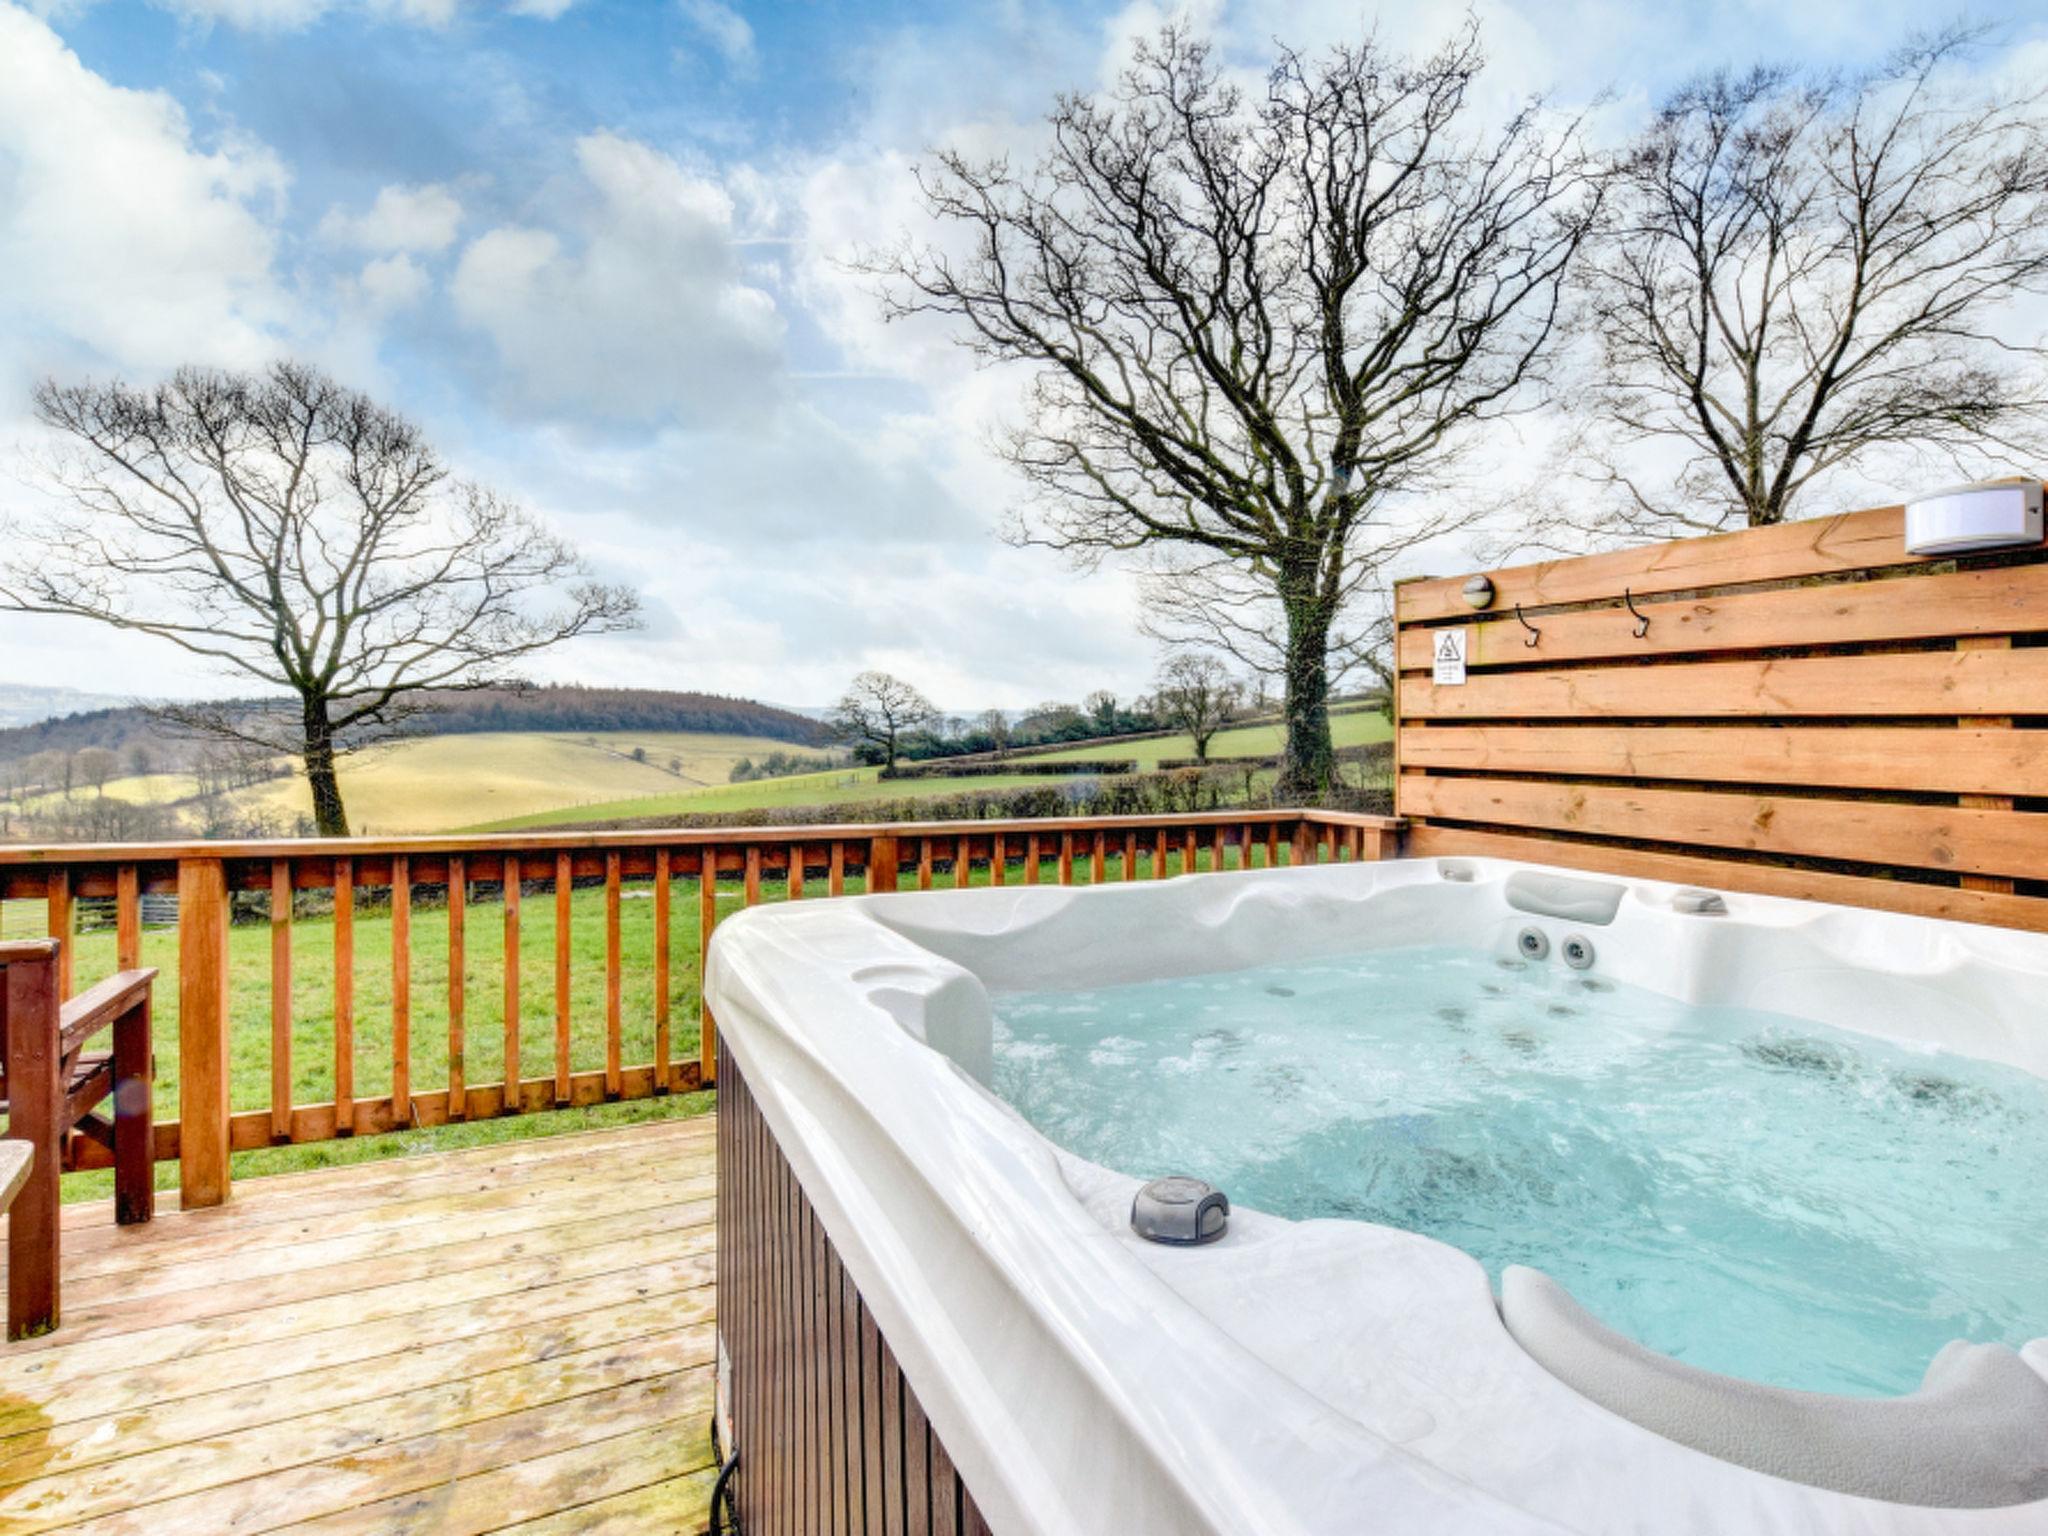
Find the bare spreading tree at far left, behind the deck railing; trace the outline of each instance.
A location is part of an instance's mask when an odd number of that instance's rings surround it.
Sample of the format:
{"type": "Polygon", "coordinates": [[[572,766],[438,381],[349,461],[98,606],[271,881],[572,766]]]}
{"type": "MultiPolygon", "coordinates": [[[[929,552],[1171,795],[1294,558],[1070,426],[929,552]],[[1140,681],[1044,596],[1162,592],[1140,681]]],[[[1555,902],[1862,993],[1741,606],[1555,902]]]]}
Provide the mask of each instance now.
{"type": "Polygon", "coordinates": [[[0,606],[154,635],[289,694],[162,713],[297,756],[324,836],[348,834],[336,758],[399,729],[426,690],[492,686],[637,621],[563,539],[313,369],[51,381],[35,406],[66,444],[61,506],[14,532],[0,606]]]}

